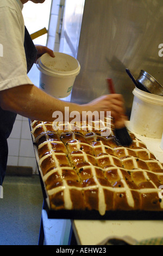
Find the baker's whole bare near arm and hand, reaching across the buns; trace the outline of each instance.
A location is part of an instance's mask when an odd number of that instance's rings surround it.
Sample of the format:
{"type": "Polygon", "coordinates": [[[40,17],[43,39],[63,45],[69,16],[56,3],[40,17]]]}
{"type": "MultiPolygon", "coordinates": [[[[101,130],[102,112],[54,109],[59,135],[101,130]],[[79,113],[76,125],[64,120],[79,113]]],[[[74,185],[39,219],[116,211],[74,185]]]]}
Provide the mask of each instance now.
{"type": "Polygon", "coordinates": [[[69,107],[70,112],[78,111],[80,114],[82,111],[111,111],[115,119],[124,113],[123,98],[120,94],[104,95],[85,105],[78,105],[55,99],[33,84],[2,90],[0,105],[4,110],[43,121],[53,121],[53,112],[61,111],[64,114],[65,107],[69,107]]]}

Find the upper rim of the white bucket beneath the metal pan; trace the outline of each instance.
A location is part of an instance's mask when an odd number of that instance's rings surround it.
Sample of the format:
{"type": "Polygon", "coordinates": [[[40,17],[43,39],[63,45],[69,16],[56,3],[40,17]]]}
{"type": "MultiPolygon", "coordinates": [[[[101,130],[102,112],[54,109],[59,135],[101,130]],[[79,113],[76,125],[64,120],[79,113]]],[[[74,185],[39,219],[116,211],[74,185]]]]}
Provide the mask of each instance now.
{"type": "Polygon", "coordinates": [[[147,103],[152,103],[154,105],[163,106],[163,97],[151,93],[143,92],[142,90],[135,87],[133,94],[138,97],[140,100],[147,103]]]}

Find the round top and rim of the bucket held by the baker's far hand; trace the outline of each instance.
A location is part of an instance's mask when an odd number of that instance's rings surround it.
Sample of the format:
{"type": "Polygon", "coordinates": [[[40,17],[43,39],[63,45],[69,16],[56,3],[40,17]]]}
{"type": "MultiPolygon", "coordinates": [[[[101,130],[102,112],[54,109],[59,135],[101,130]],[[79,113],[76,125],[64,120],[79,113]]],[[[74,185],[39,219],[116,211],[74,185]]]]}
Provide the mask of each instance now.
{"type": "Polygon", "coordinates": [[[77,76],[80,72],[78,60],[66,53],[54,52],[55,57],[43,54],[37,60],[37,68],[46,75],[55,77],[77,76]]]}

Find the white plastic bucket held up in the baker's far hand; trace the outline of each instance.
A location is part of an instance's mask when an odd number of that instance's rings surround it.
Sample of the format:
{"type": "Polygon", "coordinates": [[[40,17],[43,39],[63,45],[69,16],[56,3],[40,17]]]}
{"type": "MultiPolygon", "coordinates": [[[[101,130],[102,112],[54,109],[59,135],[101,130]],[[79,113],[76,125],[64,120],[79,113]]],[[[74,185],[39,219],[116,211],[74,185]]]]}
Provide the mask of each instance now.
{"type": "Polygon", "coordinates": [[[55,57],[43,54],[37,60],[37,68],[40,70],[39,88],[47,94],[57,98],[65,98],[71,94],[71,90],[80,72],[80,64],[72,56],[54,52],[55,57]]]}

